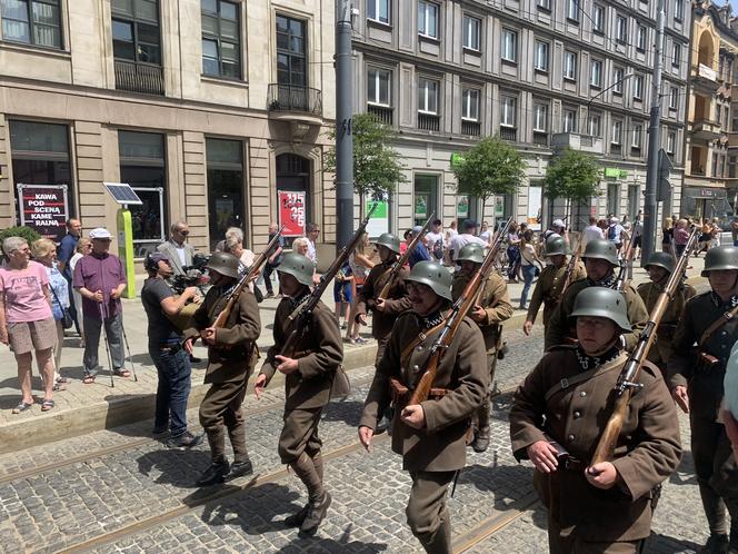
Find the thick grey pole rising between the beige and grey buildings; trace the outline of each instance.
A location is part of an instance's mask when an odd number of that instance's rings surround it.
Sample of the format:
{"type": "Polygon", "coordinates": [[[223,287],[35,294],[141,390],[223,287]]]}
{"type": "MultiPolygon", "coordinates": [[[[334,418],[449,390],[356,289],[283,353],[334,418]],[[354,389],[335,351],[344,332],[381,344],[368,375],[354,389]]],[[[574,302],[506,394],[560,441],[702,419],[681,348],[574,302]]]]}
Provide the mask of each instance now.
{"type": "Polygon", "coordinates": [[[336,251],[353,236],[353,75],[350,0],[336,0],[336,251]]]}

